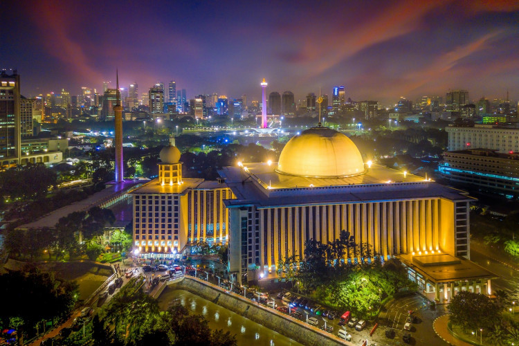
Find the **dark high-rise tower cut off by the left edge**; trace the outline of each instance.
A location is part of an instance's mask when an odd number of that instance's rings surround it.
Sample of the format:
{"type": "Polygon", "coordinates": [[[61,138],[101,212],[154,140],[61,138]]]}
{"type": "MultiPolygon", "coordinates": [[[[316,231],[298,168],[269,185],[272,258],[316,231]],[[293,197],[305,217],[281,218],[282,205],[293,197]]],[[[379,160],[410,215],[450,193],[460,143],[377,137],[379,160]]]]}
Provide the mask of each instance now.
{"type": "Polygon", "coordinates": [[[0,160],[2,167],[19,163],[20,158],[20,76],[0,72],[0,160]]]}

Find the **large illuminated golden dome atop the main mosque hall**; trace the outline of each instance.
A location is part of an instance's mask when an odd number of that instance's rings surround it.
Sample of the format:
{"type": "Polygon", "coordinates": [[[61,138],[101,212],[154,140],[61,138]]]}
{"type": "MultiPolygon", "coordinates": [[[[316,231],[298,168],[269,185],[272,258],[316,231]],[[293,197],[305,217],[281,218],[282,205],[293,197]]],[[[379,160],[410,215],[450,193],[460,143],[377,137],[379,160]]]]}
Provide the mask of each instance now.
{"type": "Polygon", "coordinates": [[[286,143],[277,172],[294,176],[339,178],[365,172],[356,145],[334,129],[312,127],[286,143]]]}

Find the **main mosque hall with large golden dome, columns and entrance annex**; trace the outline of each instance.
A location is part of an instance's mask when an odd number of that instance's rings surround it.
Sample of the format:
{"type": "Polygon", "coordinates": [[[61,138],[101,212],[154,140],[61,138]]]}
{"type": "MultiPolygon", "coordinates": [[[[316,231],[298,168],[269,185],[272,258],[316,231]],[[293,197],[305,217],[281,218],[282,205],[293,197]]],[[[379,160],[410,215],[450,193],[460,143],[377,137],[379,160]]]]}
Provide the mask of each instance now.
{"type": "Polygon", "coordinates": [[[448,298],[462,289],[462,282],[474,291],[490,288],[493,275],[466,260],[473,199],[430,179],[365,164],[337,131],[308,129],[286,144],[278,163],[239,163],[219,173],[236,197],[224,203],[229,271],[237,282],[272,279],[280,260],[304,254],[308,239],[331,242],[349,230],[358,246],[347,260],[398,256],[437,299],[441,291],[448,298]]]}

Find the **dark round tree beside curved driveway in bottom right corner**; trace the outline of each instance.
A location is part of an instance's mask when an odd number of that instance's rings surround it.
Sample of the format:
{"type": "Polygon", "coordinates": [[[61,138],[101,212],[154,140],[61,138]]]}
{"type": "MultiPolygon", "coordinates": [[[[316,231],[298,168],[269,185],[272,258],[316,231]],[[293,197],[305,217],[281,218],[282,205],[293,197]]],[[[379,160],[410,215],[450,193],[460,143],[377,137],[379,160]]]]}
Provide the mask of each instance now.
{"type": "Polygon", "coordinates": [[[468,330],[486,328],[500,319],[500,307],[480,293],[461,291],[448,304],[450,321],[468,330]]]}

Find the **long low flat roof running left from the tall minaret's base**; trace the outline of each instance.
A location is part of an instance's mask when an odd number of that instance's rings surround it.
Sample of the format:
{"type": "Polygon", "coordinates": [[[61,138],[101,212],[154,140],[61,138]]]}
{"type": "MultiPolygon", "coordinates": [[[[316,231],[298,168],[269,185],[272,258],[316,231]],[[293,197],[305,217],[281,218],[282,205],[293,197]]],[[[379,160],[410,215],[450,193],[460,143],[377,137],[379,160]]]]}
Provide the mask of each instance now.
{"type": "Polygon", "coordinates": [[[122,183],[107,183],[107,188],[104,190],[95,192],[95,194],[92,194],[86,199],[82,199],[81,201],[69,204],[69,206],[64,206],[60,209],[54,210],[53,212],[50,212],[49,214],[40,219],[37,219],[36,221],[18,226],[17,228],[53,228],[56,226],[57,221],[59,221],[62,217],[66,217],[71,212],[81,212],[89,210],[92,207],[99,206],[108,199],[116,197],[119,194],[127,193],[129,190],[141,183],[143,183],[142,180],[125,180],[122,183]]]}

